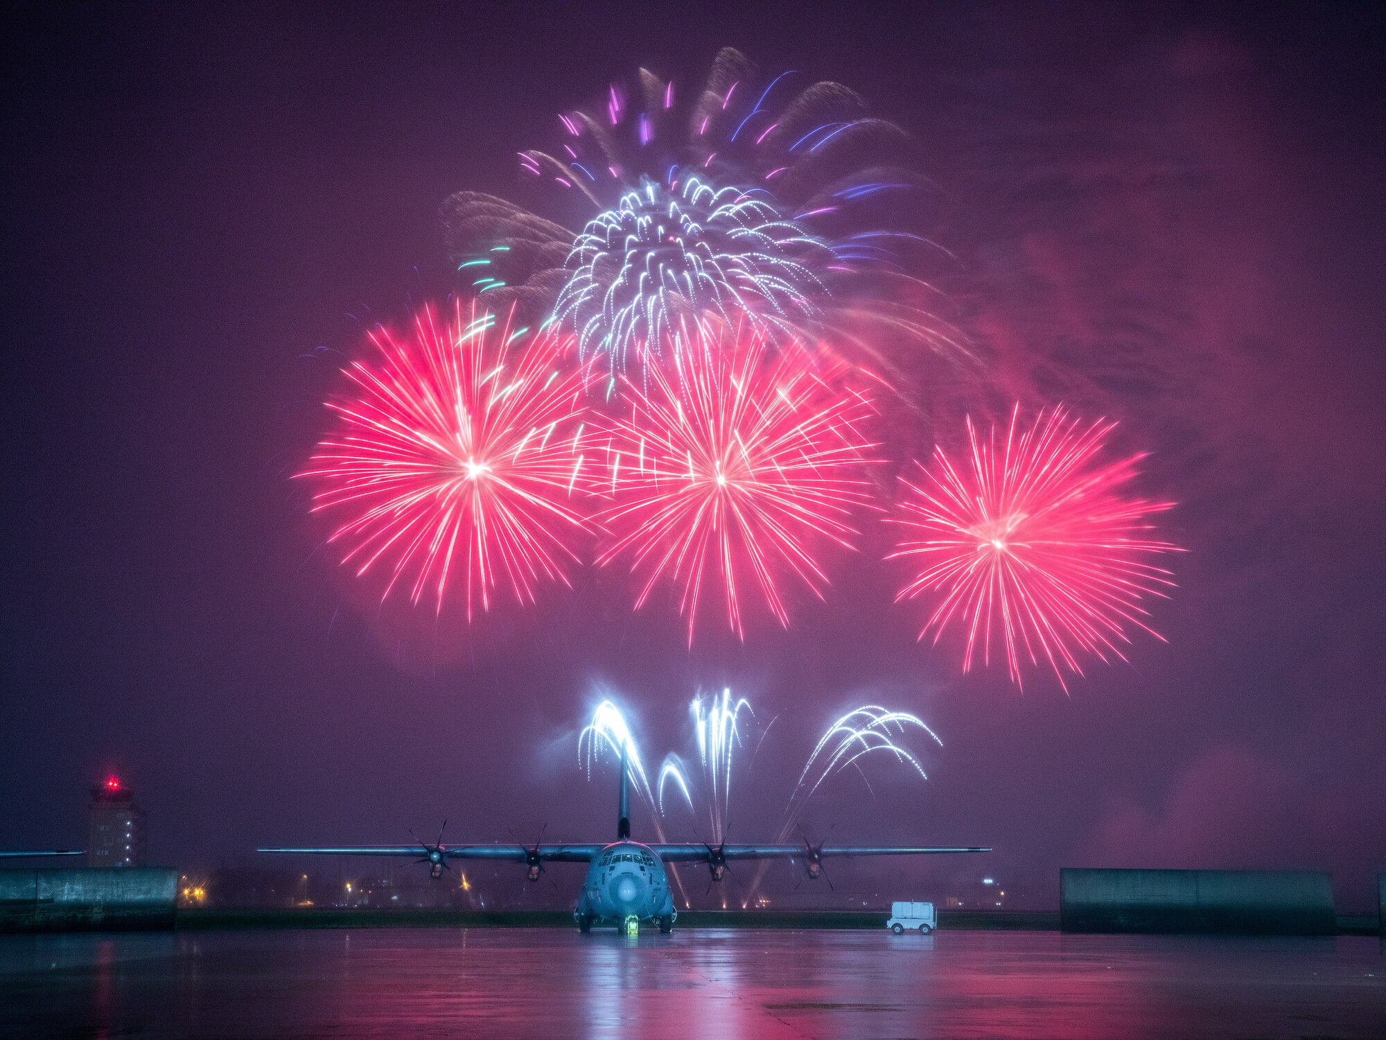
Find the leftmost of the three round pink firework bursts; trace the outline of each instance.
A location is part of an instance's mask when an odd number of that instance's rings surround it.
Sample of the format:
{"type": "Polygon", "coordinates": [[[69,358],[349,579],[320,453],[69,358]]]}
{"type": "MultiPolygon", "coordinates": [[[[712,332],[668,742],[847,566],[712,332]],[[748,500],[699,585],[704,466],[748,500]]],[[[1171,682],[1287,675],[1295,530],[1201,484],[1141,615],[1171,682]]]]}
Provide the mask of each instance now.
{"type": "Polygon", "coordinates": [[[370,340],[376,356],[345,369],[349,392],[328,402],[337,433],[298,474],[319,485],[315,512],[345,513],[328,538],[342,563],[383,567],[384,596],[431,591],[438,610],[460,581],[468,621],[500,578],[521,602],[541,580],[567,584],[586,530],[571,498],[590,379],[565,365],[571,338],[457,302],[448,320],[424,306],[409,336],[370,340]]]}

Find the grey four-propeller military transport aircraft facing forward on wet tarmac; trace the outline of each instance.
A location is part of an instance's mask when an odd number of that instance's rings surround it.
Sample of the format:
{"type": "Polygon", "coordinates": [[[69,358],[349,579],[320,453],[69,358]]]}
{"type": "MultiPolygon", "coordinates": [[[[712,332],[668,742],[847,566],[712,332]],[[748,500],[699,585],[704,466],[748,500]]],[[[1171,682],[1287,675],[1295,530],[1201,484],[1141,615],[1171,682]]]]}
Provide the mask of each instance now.
{"type": "MultiPolygon", "coordinates": [[[[654,921],[661,932],[674,928],[678,911],[669,893],[667,863],[705,863],[711,882],[722,881],[732,860],[798,860],[805,872],[816,879],[823,875],[823,860],[830,856],[919,856],[927,853],[990,853],[991,849],[938,849],[920,846],[839,844],[671,844],[631,840],[631,803],[628,795],[629,770],[621,756],[621,801],[617,820],[617,840],[608,844],[452,844],[442,843],[442,831],[432,844],[356,844],[334,849],[256,849],[258,853],[295,853],[322,856],[419,856],[416,863],[427,863],[432,878],[450,871],[449,860],[499,860],[523,863],[529,881],[539,881],[545,863],[585,863],[588,876],[578,893],[572,917],[582,932],[595,924],[614,924],[626,932],[636,930],[640,921],[654,921]],[[421,853],[421,856],[420,856],[421,853]]],[[[446,821],[444,822],[446,828],[446,821]]]]}

